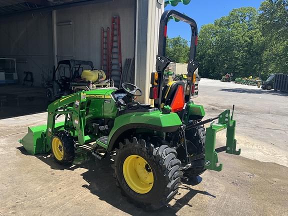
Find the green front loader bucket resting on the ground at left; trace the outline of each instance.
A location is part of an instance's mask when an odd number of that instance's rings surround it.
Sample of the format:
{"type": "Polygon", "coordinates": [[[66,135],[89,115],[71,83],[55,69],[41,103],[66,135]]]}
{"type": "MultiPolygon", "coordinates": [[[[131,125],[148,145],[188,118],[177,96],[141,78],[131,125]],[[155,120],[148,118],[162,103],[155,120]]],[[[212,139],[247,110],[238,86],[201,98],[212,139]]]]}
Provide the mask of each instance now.
{"type": "Polygon", "coordinates": [[[45,152],[45,133],[47,125],[28,127],[28,133],[19,140],[29,154],[35,155],[45,152]]]}

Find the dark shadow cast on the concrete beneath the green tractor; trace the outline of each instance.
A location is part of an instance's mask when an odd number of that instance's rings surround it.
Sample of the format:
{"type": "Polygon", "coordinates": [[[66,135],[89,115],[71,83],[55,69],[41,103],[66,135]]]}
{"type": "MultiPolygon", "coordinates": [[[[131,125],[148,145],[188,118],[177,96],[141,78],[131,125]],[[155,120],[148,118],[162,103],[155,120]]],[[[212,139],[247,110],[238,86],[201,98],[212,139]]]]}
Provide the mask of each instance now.
{"type": "MultiPolygon", "coordinates": [[[[22,154],[28,155],[28,153],[22,146],[17,147],[17,149],[22,154]]],[[[82,187],[89,189],[90,192],[98,196],[100,200],[104,200],[110,205],[131,215],[176,215],[176,212],[179,211],[182,207],[192,207],[192,205],[190,205],[188,202],[197,193],[208,195],[213,198],[216,197],[208,193],[207,191],[195,190],[192,189],[190,185],[182,184],[179,187],[181,191],[178,192],[179,198],[178,196],[174,197],[174,200],[176,202],[173,205],[164,206],[156,211],[146,212],[141,208],[135,207],[135,205],[133,205],[132,203],[129,203],[125,196],[121,194],[120,189],[116,186],[116,179],[113,177],[113,169],[111,168],[112,162],[109,159],[109,156],[102,160],[94,161],[93,159],[91,159],[83,164],[73,166],[59,165],[55,162],[52,156],[47,154],[40,154],[36,157],[44,163],[48,164],[51,169],[75,170],[78,167],[87,169],[86,172],[81,174],[83,179],[87,182],[86,184],[83,184],[82,187]]]]}

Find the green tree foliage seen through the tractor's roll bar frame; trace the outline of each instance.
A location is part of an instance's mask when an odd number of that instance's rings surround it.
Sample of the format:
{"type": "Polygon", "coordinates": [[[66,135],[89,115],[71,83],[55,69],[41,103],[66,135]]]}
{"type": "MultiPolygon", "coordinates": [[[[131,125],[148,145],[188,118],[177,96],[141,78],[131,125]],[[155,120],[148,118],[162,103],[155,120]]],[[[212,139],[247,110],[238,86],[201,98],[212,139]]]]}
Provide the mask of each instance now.
{"type": "Polygon", "coordinates": [[[180,36],[166,40],[166,56],[173,62],[187,63],[189,56],[188,41],[180,36]]]}

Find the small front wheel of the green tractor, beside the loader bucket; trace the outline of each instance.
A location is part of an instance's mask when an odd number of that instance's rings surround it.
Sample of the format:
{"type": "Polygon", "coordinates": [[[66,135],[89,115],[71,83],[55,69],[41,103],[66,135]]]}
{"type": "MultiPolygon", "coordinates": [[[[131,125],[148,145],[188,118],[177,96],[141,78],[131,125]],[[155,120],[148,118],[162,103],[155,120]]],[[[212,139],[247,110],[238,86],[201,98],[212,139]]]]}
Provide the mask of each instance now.
{"type": "Polygon", "coordinates": [[[59,164],[69,164],[75,157],[75,140],[67,131],[60,130],[51,139],[51,150],[59,164]]]}

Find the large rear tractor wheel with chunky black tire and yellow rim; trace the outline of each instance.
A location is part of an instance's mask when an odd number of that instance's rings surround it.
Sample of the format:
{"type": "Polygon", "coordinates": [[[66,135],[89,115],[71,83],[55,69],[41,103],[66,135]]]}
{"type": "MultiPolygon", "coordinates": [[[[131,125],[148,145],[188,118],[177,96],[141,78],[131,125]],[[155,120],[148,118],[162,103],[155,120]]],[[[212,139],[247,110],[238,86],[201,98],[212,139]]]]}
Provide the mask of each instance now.
{"type": "Polygon", "coordinates": [[[177,152],[166,144],[153,144],[135,137],[125,139],[115,149],[113,164],[122,194],[145,210],[167,205],[177,193],[182,175],[177,152]]]}

